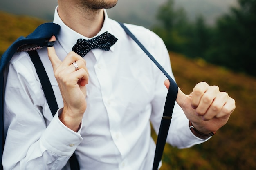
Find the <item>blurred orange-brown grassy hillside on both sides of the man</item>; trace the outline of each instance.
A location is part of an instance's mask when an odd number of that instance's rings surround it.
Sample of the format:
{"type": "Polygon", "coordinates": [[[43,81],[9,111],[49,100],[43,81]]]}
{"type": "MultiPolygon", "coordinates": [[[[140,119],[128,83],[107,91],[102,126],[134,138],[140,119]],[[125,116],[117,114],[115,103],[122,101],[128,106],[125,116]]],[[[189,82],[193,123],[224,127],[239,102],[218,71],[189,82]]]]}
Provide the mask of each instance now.
{"type": "MultiPolygon", "coordinates": [[[[42,20],[0,12],[0,55],[18,36],[28,35],[42,20]]],[[[170,52],[173,73],[184,93],[206,81],[236,99],[229,122],[204,144],[178,150],[166,145],[161,170],[255,170],[256,78],[190,60],[170,52]]]]}

